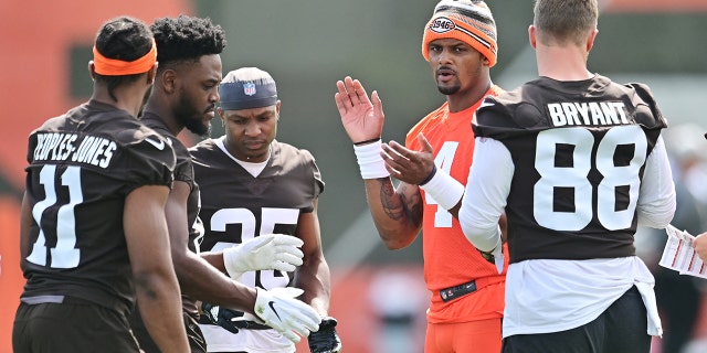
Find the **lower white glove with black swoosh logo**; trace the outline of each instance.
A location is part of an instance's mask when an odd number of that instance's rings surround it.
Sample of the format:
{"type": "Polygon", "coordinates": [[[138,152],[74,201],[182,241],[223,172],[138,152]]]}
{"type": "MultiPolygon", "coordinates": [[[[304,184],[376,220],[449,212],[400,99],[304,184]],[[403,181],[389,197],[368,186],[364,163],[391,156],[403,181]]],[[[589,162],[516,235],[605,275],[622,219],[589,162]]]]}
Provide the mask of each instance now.
{"type": "Polygon", "coordinates": [[[299,288],[257,289],[253,311],[264,323],[282,333],[289,341],[298,343],[299,336],[319,330],[321,318],[306,303],[295,299],[304,290],[299,288]]]}

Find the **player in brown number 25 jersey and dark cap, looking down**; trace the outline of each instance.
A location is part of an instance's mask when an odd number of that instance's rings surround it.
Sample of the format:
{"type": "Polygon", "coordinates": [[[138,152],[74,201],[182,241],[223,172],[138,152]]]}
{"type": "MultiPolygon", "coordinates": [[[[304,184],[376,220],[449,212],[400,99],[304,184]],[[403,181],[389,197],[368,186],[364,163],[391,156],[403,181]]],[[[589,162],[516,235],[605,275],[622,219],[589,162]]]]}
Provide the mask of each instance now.
{"type": "MultiPolygon", "coordinates": [[[[219,94],[224,136],[190,149],[201,188],[199,216],[205,229],[201,249],[223,252],[219,268],[244,285],[304,291],[300,300],[320,318],[319,330],[307,338],[310,351],[339,352],[336,320],[327,317],[329,267],[321,252],[317,216],[325,184],[315,159],[307,150],[275,140],[281,100],[267,72],[257,67],[232,71],[221,82],[219,94]],[[249,247],[275,235],[302,246],[297,267],[281,270],[232,259],[234,246],[249,247]]],[[[249,253],[262,249],[258,246],[249,253]]],[[[201,329],[209,352],[295,352],[291,340],[253,315],[223,306],[207,311],[212,315],[201,321],[201,329]]]]}

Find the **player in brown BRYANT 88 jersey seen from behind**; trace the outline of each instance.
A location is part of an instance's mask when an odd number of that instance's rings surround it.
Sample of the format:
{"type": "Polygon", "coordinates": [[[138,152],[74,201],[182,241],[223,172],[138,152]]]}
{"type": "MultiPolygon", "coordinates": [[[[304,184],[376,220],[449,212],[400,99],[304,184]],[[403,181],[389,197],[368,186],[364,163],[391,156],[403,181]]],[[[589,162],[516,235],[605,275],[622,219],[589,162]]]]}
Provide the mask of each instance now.
{"type": "Polygon", "coordinates": [[[597,0],[537,0],[540,77],[487,97],[474,121],[460,222],[489,252],[506,213],[504,353],[647,353],[662,334],[633,236],[675,212],[666,121],[647,86],[587,69],[598,13],[597,0]]]}

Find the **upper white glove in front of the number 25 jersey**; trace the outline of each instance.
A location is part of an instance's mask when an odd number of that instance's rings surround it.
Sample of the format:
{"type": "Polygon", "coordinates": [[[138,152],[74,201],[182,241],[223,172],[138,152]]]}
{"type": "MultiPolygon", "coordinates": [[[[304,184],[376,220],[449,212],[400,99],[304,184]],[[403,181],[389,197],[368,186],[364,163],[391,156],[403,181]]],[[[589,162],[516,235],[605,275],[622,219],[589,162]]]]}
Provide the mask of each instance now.
{"type": "Polygon", "coordinates": [[[285,234],[267,234],[223,250],[223,265],[229,276],[239,279],[247,271],[277,269],[294,271],[302,265],[304,242],[285,234]]]}

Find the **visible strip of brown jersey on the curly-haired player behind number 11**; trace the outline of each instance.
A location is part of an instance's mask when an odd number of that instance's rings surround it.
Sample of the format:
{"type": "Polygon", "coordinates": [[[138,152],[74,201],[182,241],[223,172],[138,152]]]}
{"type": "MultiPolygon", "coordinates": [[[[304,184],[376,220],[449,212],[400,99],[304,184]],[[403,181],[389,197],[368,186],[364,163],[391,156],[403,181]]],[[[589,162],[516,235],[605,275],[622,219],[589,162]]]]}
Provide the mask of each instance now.
{"type": "MultiPolygon", "coordinates": [[[[146,113],[140,120],[146,126],[159,132],[175,149],[177,164],[175,167],[175,181],[181,181],[189,184],[189,197],[187,200],[187,224],[189,231],[189,250],[199,254],[199,242],[202,236],[199,220],[199,185],[194,182],[194,169],[191,162],[191,156],[187,147],[167,128],[165,121],[157,115],[146,113]]],[[[188,296],[182,296],[182,304],[186,312],[193,318],[198,318],[199,310],[196,301],[188,296]]]]}

